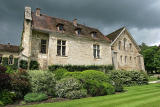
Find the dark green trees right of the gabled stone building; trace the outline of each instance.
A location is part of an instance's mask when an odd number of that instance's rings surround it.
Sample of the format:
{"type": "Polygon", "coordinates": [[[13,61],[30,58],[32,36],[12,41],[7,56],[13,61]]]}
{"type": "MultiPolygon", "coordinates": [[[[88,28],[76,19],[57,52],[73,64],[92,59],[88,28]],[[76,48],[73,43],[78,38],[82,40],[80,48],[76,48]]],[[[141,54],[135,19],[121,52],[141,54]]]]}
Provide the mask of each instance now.
{"type": "Polygon", "coordinates": [[[159,73],[160,70],[160,47],[158,46],[147,46],[142,44],[141,54],[144,57],[145,69],[148,73],[159,73]]]}

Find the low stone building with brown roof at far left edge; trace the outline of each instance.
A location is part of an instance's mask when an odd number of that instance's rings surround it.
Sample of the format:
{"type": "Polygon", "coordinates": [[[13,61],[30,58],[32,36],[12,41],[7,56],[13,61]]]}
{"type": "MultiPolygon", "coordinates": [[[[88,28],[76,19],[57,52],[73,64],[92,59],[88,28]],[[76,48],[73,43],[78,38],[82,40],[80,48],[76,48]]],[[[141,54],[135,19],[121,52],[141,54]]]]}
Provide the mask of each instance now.
{"type": "Polygon", "coordinates": [[[3,64],[4,59],[7,58],[8,65],[13,65],[18,57],[19,46],[0,44],[0,64],[3,64]]]}

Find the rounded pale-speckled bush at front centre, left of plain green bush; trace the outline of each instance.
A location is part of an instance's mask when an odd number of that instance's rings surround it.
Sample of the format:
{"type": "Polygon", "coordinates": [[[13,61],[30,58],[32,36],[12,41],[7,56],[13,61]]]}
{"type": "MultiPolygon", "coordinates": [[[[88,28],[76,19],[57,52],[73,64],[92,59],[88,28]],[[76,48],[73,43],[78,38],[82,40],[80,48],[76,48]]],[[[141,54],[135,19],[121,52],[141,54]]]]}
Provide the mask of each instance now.
{"type": "Polygon", "coordinates": [[[57,82],[56,84],[56,95],[61,98],[81,98],[84,92],[81,93],[82,84],[75,78],[64,78],[57,82]],[[77,93],[72,96],[72,93],[77,93]]]}

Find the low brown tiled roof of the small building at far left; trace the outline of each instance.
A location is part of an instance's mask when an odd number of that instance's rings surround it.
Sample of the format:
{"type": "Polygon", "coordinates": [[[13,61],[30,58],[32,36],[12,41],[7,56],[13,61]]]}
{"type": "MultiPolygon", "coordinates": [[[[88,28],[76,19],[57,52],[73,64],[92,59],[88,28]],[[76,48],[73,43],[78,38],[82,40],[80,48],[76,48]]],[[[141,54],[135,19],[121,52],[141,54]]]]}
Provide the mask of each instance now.
{"type": "Polygon", "coordinates": [[[19,46],[0,44],[0,52],[19,52],[19,46]]]}

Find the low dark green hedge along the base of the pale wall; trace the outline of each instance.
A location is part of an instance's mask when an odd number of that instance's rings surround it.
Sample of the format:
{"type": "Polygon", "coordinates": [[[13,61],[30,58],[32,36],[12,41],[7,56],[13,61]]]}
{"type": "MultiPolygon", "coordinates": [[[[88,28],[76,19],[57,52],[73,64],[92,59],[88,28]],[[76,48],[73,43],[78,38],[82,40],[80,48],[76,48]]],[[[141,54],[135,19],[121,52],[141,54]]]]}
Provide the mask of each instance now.
{"type": "Polygon", "coordinates": [[[84,70],[100,70],[100,71],[108,71],[108,70],[113,70],[112,65],[51,65],[48,67],[50,71],[55,71],[58,68],[64,68],[67,69],[70,72],[74,71],[84,71],[84,70]]]}

